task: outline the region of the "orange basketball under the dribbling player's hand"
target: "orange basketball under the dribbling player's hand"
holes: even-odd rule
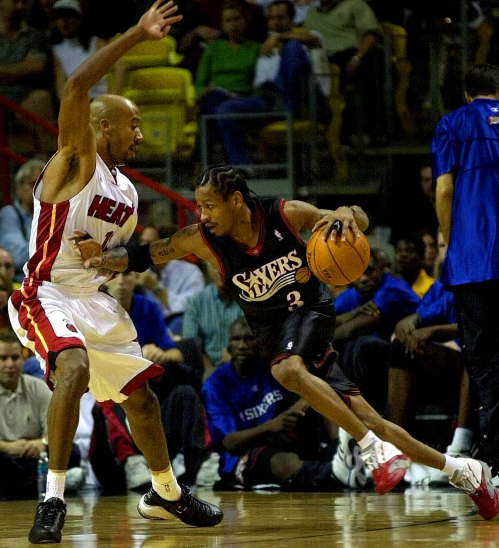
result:
[[[346,286],[360,278],[369,264],[371,252],[364,234],[355,236],[349,229],[347,240],[322,239],[322,230],[315,231],[307,244],[307,261],[310,270],[322,282],[333,286]]]

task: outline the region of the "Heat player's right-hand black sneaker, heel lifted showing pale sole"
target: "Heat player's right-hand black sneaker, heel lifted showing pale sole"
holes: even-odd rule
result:
[[[173,501],[162,499],[151,488],[139,500],[139,514],[148,520],[171,520],[178,517],[180,521],[195,527],[212,527],[222,521],[224,515],[218,506],[196,499],[190,494],[188,487],[182,483],[179,485],[182,496],[179,500]]]

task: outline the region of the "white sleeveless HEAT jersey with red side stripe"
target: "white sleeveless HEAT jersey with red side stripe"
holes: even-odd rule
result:
[[[42,186],[43,174],[33,189],[35,207],[30,259],[24,265],[26,278],[31,283],[47,281],[93,293],[112,274],[84,269],[80,252],[69,238],[76,229],[101,242],[103,249],[124,246],[137,225],[137,191],[118,170],[115,180],[99,155],[92,179],[66,202],[41,202]]]

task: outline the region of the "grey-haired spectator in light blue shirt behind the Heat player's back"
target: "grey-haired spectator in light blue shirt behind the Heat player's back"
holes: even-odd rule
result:
[[[14,258],[15,281],[22,282],[22,267],[29,259],[31,221],[33,220],[33,186],[45,167],[45,162],[31,159],[15,174],[14,203],[0,209],[0,247]]]

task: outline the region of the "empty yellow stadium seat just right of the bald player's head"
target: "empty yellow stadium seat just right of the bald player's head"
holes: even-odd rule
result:
[[[185,68],[155,67],[130,71],[123,95],[137,104],[144,141],[137,159],[160,160],[168,153],[186,157],[194,146],[188,124],[192,76]]]

